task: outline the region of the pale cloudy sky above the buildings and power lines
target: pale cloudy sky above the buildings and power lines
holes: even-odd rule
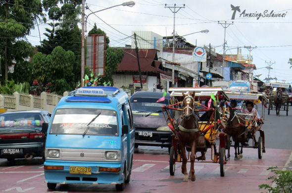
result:
[[[132,31],[152,31],[161,36],[172,36],[174,8],[168,7],[176,6],[175,32],[177,35],[183,36],[209,30],[207,34],[195,33],[185,36],[187,42],[197,46],[211,44],[217,53],[223,54],[224,25],[220,23],[226,22],[231,24],[226,28],[226,54],[237,54],[237,47],[241,47],[242,54],[247,56],[249,50],[244,47],[250,46],[252,64],[255,64],[257,68],[254,75],[260,75],[259,79],[264,82],[264,79],[270,75],[271,78],[276,77],[277,81],[292,84],[292,68],[290,69],[291,65],[288,64],[289,58],[292,58],[291,0],[134,1],[136,4],[133,7],[116,6],[91,14],[87,20],[87,31],[96,23],[97,27],[109,37],[112,47],[131,45]],[[123,2],[127,0],[86,0],[85,3],[89,9],[85,11],[85,14],[88,15]],[[234,19],[232,19],[234,13],[232,6],[237,7]],[[261,16],[258,16],[259,13]],[[276,17],[276,14],[280,17]],[[40,24],[39,27],[43,40],[45,39],[43,33],[49,25]],[[36,27],[27,38],[32,45],[40,45],[38,28]],[[273,68],[270,74],[266,68],[269,65]]]

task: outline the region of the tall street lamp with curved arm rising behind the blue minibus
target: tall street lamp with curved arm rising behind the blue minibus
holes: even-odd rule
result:
[[[134,1],[123,2],[122,4],[114,5],[114,6],[107,7],[107,8],[98,10],[98,11],[91,12],[90,14],[87,15],[86,20],[84,20],[85,19],[85,0],[82,0],[81,80],[80,80],[82,86],[83,86],[83,76],[84,76],[84,66],[85,66],[85,48],[84,48],[84,32],[85,31],[84,31],[84,25],[85,25],[85,28],[86,28],[87,19],[91,14],[97,13],[99,11],[103,11],[103,10],[106,10],[106,9],[110,9],[110,8],[113,8],[113,7],[116,7],[116,6],[121,6],[121,5],[133,7],[135,5],[135,2]]]

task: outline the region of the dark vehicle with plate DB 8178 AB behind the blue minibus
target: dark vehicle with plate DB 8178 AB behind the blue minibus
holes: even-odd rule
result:
[[[140,91],[130,97],[135,122],[135,147],[139,145],[170,147],[172,132],[162,114],[162,106],[170,104],[170,95],[166,94],[163,101],[160,92]],[[173,113],[173,112],[171,112]]]

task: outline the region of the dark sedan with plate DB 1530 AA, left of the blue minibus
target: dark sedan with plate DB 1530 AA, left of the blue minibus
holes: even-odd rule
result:
[[[45,156],[46,135],[43,123],[49,123],[48,111],[13,111],[0,114],[0,158],[31,159]]]

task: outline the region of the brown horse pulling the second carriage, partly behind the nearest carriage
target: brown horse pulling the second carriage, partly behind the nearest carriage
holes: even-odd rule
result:
[[[247,132],[245,132],[245,120],[244,117],[241,115],[236,115],[231,108],[228,106],[230,117],[226,123],[225,133],[226,137],[226,148],[228,149],[227,159],[230,159],[230,138],[232,137],[234,141],[234,148],[235,148],[235,157],[234,160],[238,160],[242,158],[243,154],[243,143],[247,142]],[[241,143],[241,150],[240,150],[240,143]]]

